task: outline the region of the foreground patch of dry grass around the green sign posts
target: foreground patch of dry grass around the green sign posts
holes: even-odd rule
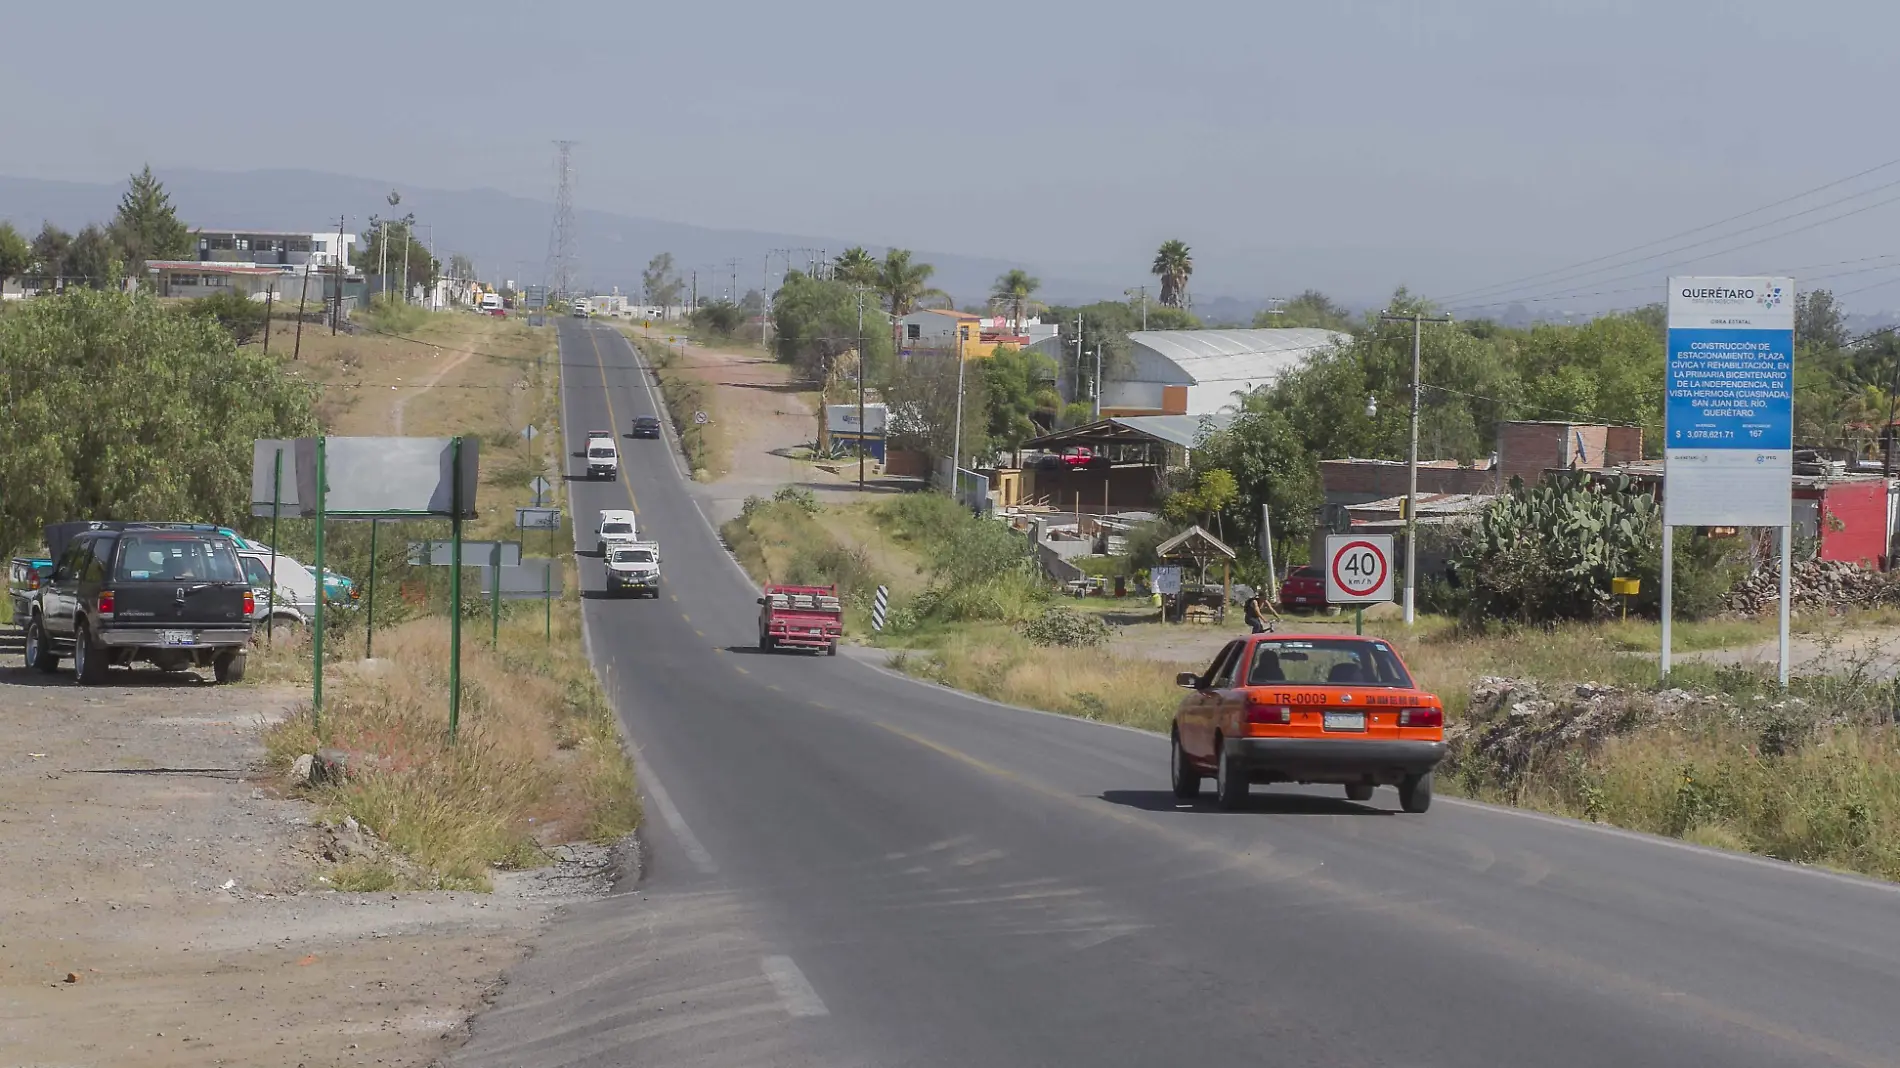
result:
[[[274,728],[270,758],[287,768],[321,747],[363,754],[363,775],[315,798],[441,886],[484,887],[492,867],[532,867],[543,846],[619,838],[640,819],[633,770],[581,652],[578,601],[555,621],[545,642],[540,612],[511,612],[498,650],[464,625],[454,745],[448,621],[428,618],[380,635],[374,667],[346,659],[327,671],[321,722],[304,709]]]

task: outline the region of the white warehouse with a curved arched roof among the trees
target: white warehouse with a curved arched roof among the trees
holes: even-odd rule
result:
[[[1132,367],[1102,386],[1102,416],[1212,416],[1349,340],[1320,329],[1134,331]]]

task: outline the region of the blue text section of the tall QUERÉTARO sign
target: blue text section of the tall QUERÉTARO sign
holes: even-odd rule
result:
[[[1668,333],[1670,448],[1794,448],[1794,331]]]

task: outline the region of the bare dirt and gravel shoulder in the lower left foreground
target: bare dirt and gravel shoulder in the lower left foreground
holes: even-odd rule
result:
[[[4,663],[4,1064],[428,1064],[604,855],[492,895],[329,891],[336,832],[262,766],[296,692]]]

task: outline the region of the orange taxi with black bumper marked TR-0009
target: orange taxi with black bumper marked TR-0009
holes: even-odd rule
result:
[[[1338,783],[1357,802],[1398,787],[1402,810],[1431,808],[1444,705],[1379,639],[1254,635],[1174,680],[1193,690],[1174,711],[1176,798],[1199,796],[1212,777],[1224,810],[1252,783]]]

